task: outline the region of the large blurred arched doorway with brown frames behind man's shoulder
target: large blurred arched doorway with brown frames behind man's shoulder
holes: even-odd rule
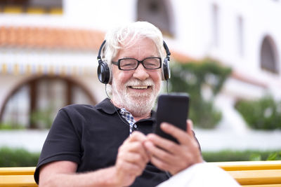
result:
[[[15,88],[1,109],[1,124],[11,128],[48,128],[60,108],[96,104],[91,93],[70,78],[41,76]]]

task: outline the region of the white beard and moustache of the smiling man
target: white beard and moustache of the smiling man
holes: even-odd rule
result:
[[[129,86],[149,85],[150,92],[138,93],[128,92]],[[144,116],[152,110],[157,95],[159,94],[161,83],[155,85],[151,78],[145,81],[139,81],[136,78],[131,78],[124,85],[115,83],[115,79],[112,80],[112,97],[113,102],[119,108],[125,108],[133,116]]]

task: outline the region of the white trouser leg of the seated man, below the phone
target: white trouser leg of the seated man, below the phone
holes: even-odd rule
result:
[[[172,176],[169,180],[160,183],[157,187],[235,187],[240,186],[235,179],[220,167],[199,163],[184,169]]]

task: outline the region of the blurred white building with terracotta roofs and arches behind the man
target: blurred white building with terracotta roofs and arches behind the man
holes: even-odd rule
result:
[[[281,96],[280,10],[277,0],[0,1],[1,121],[32,126],[34,111],[102,100],[104,33],[146,20],[164,33],[172,61],[212,57],[233,68],[216,105],[225,124],[243,128],[237,99]]]

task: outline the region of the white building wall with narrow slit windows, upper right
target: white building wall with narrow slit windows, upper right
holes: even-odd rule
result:
[[[259,55],[261,42],[266,34],[273,37],[277,53],[281,54],[281,3],[279,1],[176,0],[172,2],[176,21],[173,47],[191,57],[201,58],[211,55],[245,74],[263,76],[259,66]],[[212,39],[214,27],[211,18],[212,4],[218,6],[218,47],[213,45]],[[240,56],[238,48],[239,16],[244,22],[243,56]],[[279,69],[280,67],[281,65]]]

